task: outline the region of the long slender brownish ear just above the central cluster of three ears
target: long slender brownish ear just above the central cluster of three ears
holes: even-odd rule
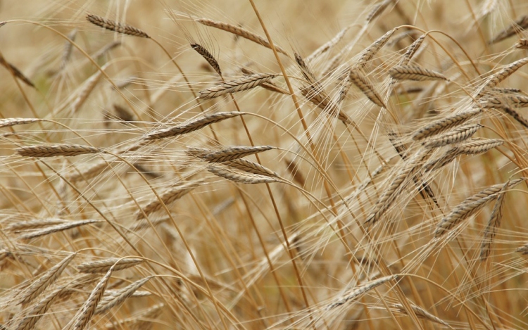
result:
[[[160,129],[158,131],[152,132],[146,135],[146,140],[157,140],[164,139],[165,137],[175,137],[181,134],[187,134],[190,132],[197,131],[206,127],[208,125],[214,124],[215,122],[220,122],[229,118],[237,117],[239,115],[244,115],[238,111],[232,111],[227,113],[213,113],[210,115],[205,115],[202,118],[191,120],[189,122],[184,122],[175,127],[168,127],[165,129]]]

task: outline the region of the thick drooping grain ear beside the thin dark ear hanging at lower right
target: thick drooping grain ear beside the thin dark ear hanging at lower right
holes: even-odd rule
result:
[[[446,234],[446,232],[451,230],[457,224],[460,224],[460,222],[484,208],[486,203],[497,198],[498,193],[501,193],[501,191],[504,189],[513,188],[525,180],[526,178],[515,179],[507,182],[506,184],[496,184],[494,186],[489,186],[488,188],[479,191],[473,196],[466,198],[462,203],[453,208],[453,210],[451,210],[451,212],[449,212],[449,214],[439,222],[439,224],[436,226],[436,230],[434,231],[434,237],[438,238]]]

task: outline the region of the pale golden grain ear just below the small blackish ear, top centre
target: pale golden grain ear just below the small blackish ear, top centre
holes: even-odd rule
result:
[[[253,89],[264,82],[269,82],[277,77],[272,73],[256,73],[255,75],[246,75],[236,80],[222,82],[214,87],[200,91],[199,99],[208,100],[225,94],[236,93],[237,91],[246,91]]]

